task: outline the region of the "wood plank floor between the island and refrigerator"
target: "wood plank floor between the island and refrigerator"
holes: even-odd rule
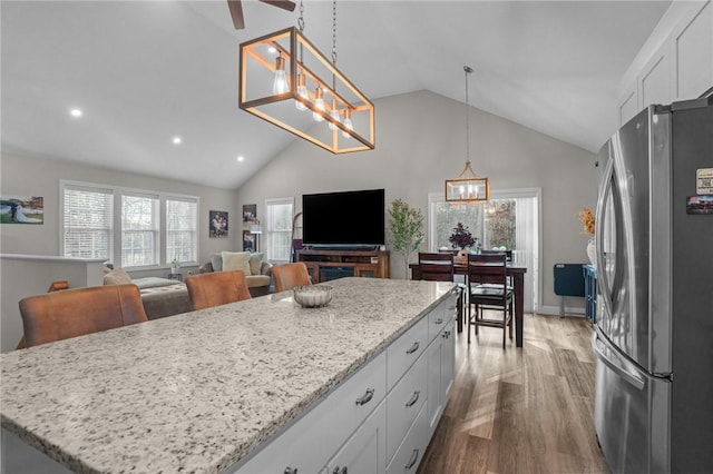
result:
[[[472,328],[471,328],[472,330]],[[608,473],[597,445],[592,325],[525,315],[524,347],[501,329],[456,339],[456,381],[419,474]]]

